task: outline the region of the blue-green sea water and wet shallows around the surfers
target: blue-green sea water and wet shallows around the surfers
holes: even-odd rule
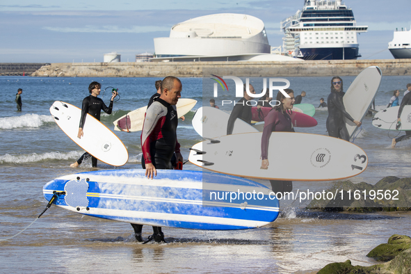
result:
[[[342,77],[345,90],[355,77]],[[319,106],[328,97],[331,77],[288,78],[296,95],[307,92],[303,103]],[[0,101],[0,271],[2,273],[315,273],[326,264],[350,259],[354,265],[376,264],[365,255],[376,245],[387,242],[392,234],[408,234],[411,213],[321,213],[307,211],[298,201],[280,203],[280,218],[266,227],[235,232],[198,231],[164,228],[168,243],[142,245],[134,240],[131,225],[81,216],[51,207],[31,227],[22,231],[45,209],[42,186],[51,179],[74,172],[93,170],[90,161],[79,168],[70,163],[83,154],[57,126],[49,114],[56,100],[81,106],[88,96],[91,81],[119,88],[120,100],[111,115],[112,122],[128,111],[147,104],[155,92],[154,78],[41,78],[1,76],[3,100]],[[182,78],[182,97],[198,100],[186,120],[180,120],[177,135],[186,159],[188,149],[198,143],[191,118],[202,106],[202,79]],[[387,106],[393,90],[400,99],[410,77],[383,76],[376,109]],[[252,82],[255,90],[260,81]],[[15,93],[23,89],[22,112],[17,112]],[[110,97],[108,88],[103,99]],[[100,95],[100,97],[102,97]],[[204,97],[204,104],[209,98]],[[218,100],[216,101],[219,104]],[[220,105],[220,104],[219,104]],[[229,106],[220,108],[230,111]],[[326,135],[326,108],[316,108],[313,128],[298,132]],[[369,166],[352,182],[376,184],[386,176],[410,177],[411,141],[391,148],[398,133],[376,129],[371,116],[363,120],[354,143],[366,152]],[[129,151],[129,161],[121,168],[140,168],[140,133],[114,131]],[[403,134],[403,132],[401,133]],[[290,140],[292,142],[292,140]],[[309,144],[307,144],[309,145]],[[298,155],[296,155],[298,156]],[[292,164],[292,163],[290,163]],[[113,168],[98,163],[99,169]],[[296,167],[298,168],[298,167]],[[191,163],[185,170],[200,170]],[[264,182],[263,182],[264,183]],[[333,182],[294,182],[293,188],[323,190]],[[145,226],[143,236],[152,232]]]

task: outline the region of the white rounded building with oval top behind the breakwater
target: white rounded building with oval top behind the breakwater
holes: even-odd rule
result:
[[[244,61],[271,51],[260,19],[232,13],[176,24],[169,38],[154,38],[154,49],[152,61]]]

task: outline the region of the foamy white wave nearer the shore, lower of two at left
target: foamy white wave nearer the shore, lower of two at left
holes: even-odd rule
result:
[[[72,151],[72,152],[46,152],[42,154],[32,153],[32,154],[22,154],[22,155],[10,155],[4,154],[0,155],[0,163],[35,163],[44,160],[68,160],[77,159],[81,156],[83,151]]]

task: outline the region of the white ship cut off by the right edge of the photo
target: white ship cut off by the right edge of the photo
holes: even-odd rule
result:
[[[396,59],[411,58],[411,29],[396,29],[394,39],[388,43],[388,49]]]

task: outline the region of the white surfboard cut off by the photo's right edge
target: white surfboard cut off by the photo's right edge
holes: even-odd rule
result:
[[[398,109],[400,106],[392,106],[391,108],[385,108],[382,111],[378,111],[373,118],[373,126],[378,129],[388,130],[411,130],[411,106],[404,106],[403,112],[401,112],[401,124],[396,129],[396,122],[398,117]]]

